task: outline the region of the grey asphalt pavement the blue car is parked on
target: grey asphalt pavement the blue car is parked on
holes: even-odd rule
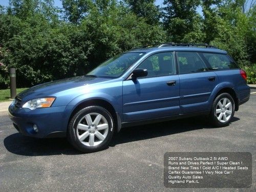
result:
[[[252,89],[251,92],[256,92]],[[229,126],[205,117],[121,130],[104,151],[81,154],[65,138],[20,135],[0,112],[0,191],[256,191],[256,93]],[[250,152],[250,188],[165,188],[165,152]]]

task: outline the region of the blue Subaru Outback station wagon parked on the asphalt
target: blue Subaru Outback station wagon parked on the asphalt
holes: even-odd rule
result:
[[[139,123],[208,114],[214,125],[226,126],[249,96],[246,73],[226,51],[166,43],[32,87],[17,95],[9,116],[23,135],[67,136],[78,150],[95,152],[114,131]]]

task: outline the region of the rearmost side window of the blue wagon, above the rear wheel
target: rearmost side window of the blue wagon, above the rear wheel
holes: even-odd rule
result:
[[[203,53],[203,56],[209,62],[211,70],[238,68],[236,63],[234,63],[234,61],[225,54]]]

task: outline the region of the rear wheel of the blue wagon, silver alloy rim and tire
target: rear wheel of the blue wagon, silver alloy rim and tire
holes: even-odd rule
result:
[[[234,116],[234,100],[228,93],[218,95],[212,103],[210,119],[215,126],[222,127],[230,123]]]

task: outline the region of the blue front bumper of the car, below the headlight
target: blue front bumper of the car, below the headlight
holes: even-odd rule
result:
[[[25,136],[52,137],[66,136],[67,117],[66,106],[41,108],[31,111],[30,109],[16,108],[14,104],[9,106],[9,117],[14,127]],[[33,130],[33,125],[38,127],[38,133]]]

